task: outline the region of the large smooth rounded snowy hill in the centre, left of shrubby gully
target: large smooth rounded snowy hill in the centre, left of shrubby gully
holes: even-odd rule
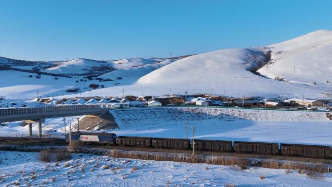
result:
[[[213,93],[227,96],[325,97],[325,90],[309,85],[277,81],[255,75],[247,69],[263,58],[260,51],[226,49],[193,55],[150,72],[133,85],[95,90],[94,95]],[[83,93],[88,96],[90,93]],[[64,96],[64,97],[74,97]]]

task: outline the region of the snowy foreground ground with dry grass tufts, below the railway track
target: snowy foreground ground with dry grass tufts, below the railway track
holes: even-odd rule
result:
[[[73,154],[43,163],[38,153],[0,151],[0,186],[48,187],[330,187],[332,174],[311,177],[297,170],[149,161]],[[65,163],[69,166],[65,167]],[[109,166],[103,169],[102,166]],[[96,166],[96,167],[95,167]],[[98,166],[98,167],[97,167]],[[137,170],[133,170],[137,167]],[[113,168],[113,169],[112,169]],[[117,169],[116,169],[117,168]],[[132,171],[133,170],[133,171]],[[261,179],[264,175],[266,178]]]

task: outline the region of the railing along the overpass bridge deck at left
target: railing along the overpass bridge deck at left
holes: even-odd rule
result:
[[[26,108],[6,108],[0,109],[0,117],[26,115],[26,114],[39,114],[49,112],[69,112],[78,110],[91,110],[101,109],[103,106],[99,104],[80,104],[80,105],[64,105],[64,106],[46,106],[46,107],[26,107]]]

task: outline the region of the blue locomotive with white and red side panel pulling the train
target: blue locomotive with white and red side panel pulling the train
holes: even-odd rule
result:
[[[110,144],[116,143],[116,134],[114,133],[87,133],[87,132],[71,132],[71,141],[82,143],[98,143]]]

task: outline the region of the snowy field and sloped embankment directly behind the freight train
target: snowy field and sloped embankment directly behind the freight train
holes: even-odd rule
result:
[[[332,145],[332,121],[324,112],[204,107],[160,107],[110,110],[122,136],[195,137]],[[186,120],[187,119],[187,120]]]

